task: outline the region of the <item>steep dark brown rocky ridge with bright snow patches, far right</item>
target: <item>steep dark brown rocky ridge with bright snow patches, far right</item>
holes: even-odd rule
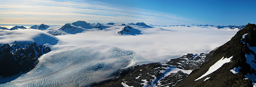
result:
[[[256,78],[256,25],[247,24],[207,63],[175,87],[252,87]],[[221,61],[224,61],[221,63]],[[217,67],[219,65],[219,67]]]

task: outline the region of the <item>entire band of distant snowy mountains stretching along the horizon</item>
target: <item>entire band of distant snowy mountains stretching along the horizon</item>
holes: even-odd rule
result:
[[[107,26],[107,25],[121,25],[121,26],[127,26],[127,25],[137,25],[137,26],[143,26],[143,27],[147,27],[147,28],[152,28],[152,27],[174,27],[174,26],[184,26],[184,27],[193,27],[193,26],[198,26],[198,27],[215,27],[216,29],[238,29],[238,30],[241,30],[243,29],[245,26],[241,25],[241,26],[213,26],[213,25],[209,25],[209,24],[206,24],[206,25],[201,25],[201,24],[198,24],[198,25],[172,25],[172,26],[159,26],[159,25],[152,25],[150,24],[149,26],[143,22],[138,22],[138,23],[128,23],[128,24],[121,24],[121,23],[107,23],[107,24],[100,24],[100,23],[87,23],[86,21],[76,21],[74,23],[67,23],[65,24],[64,26],[62,27],[51,27],[51,26],[48,26],[48,25],[45,25],[45,24],[40,24],[40,25],[34,25],[34,26],[31,26],[29,27],[28,29],[37,29],[37,30],[44,30],[46,31],[47,33],[50,33],[54,36],[57,36],[57,35],[64,35],[66,33],[69,33],[69,34],[76,34],[76,33],[81,33],[83,32],[84,30],[88,30],[88,29],[100,29],[100,30],[104,30],[106,28],[109,28],[110,26]],[[12,27],[11,29],[7,29],[5,27],[0,27],[0,29],[2,30],[18,30],[18,29],[27,29],[26,27],[24,26],[15,26],[15,27]],[[119,34],[119,33],[118,33]],[[120,34],[121,35],[121,34]]]

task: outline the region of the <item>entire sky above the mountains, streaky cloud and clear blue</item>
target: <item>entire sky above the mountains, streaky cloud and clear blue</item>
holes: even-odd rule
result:
[[[137,23],[147,25],[256,23],[256,0],[0,0],[0,26]]]

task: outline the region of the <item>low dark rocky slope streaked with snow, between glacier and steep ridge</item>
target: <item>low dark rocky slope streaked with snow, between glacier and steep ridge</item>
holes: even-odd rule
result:
[[[134,67],[121,70],[119,77],[115,80],[108,80],[102,83],[96,83],[95,87],[123,87],[123,84],[134,87],[157,86],[166,87],[174,86],[181,82],[189,74],[184,73],[186,70],[193,70],[204,64],[212,56],[215,50],[200,55],[187,54],[179,58],[171,59],[163,63],[150,63],[137,65]],[[172,71],[172,69],[174,71]],[[183,70],[183,71],[182,71]],[[172,73],[169,73],[172,71]],[[169,73],[166,75],[166,73]]]

